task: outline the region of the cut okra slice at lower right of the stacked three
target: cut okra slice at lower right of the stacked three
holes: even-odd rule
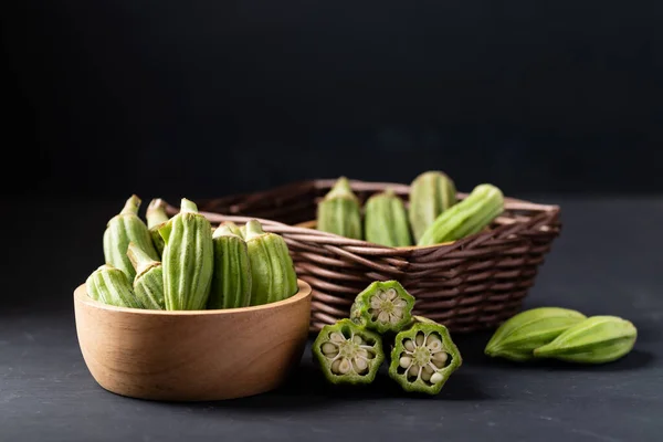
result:
[[[461,354],[441,324],[415,316],[411,328],[396,336],[389,377],[406,391],[438,394],[462,364]]]

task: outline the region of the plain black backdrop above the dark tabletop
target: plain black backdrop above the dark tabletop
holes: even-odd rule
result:
[[[663,190],[655,1],[3,9],[23,172],[3,193],[199,198],[431,168],[463,190]]]

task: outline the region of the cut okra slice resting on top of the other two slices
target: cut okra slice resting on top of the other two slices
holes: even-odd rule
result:
[[[376,281],[355,298],[350,319],[376,330],[398,333],[412,319],[414,297],[398,281]]]

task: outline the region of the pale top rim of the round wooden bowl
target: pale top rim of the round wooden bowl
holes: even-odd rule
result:
[[[95,301],[87,296],[87,288],[85,287],[85,283],[78,285],[74,291],[74,298],[76,302],[87,304],[94,308],[109,311],[109,312],[122,312],[122,313],[130,313],[135,315],[151,315],[151,316],[210,316],[210,315],[233,315],[233,314],[246,314],[252,312],[260,312],[271,308],[278,308],[282,306],[286,306],[288,304],[295,304],[311,297],[313,294],[313,290],[311,285],[303,280],[297,278],[297,293],[287,299],[277,301],[275,303],[263,304],[263,305],[253,305],[250,307],[238,307],[238,308],[217,308],[217,309],[206,309],[206,311],[154,311],[154,309],[145,309],[145,308],[129,308],[129,307],[117,307],[114,305],[104,304],[102,302]]]

